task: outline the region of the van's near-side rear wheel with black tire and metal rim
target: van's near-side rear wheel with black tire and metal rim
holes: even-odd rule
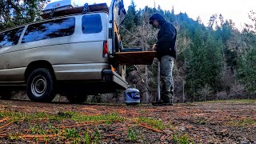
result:
[[[34,70],[26,81],[26,94],[33,102],[51,102],[55,98],[54,78],[50,70]]]

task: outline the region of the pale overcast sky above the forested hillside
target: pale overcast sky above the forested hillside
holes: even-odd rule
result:
[[[59,0],[52,0],[56,2]],[[73,0],[78,6],[85,2],[92,4],[106,2],[110,6],[111,0]],[[134,0],[137,9],[145,6],[160,5],[163,10],[171,10],[174,6],[175,14],[180,12],[188,14],[194,20],[199,16],[207,24],[212,14],[222,14],[225,19],[232,19],[235,26],[241,29],[245,22],[250,22],[248,13],[256,12],[256,0]],[[130,5],[130,0],[124,0],[125,6]]]

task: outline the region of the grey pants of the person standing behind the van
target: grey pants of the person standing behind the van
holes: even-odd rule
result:
[[[174,58],[170,55],[164,55],[160,61],[160,75],[162,83],[161,100],[171,102],[174,94],[173,80]]]

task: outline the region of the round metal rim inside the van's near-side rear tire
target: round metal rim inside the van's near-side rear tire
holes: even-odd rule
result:
[[[31,84],[32,94],[34,94],[35,97],[41,97],[46,92],[46,86],[46,78],[42,75],[38,75],[33,79]]]

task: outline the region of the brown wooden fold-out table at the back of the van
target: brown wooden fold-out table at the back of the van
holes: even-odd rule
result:
[[[115,53],[118,62],[122,65],[152,65],[155,51],[135,51]]]

